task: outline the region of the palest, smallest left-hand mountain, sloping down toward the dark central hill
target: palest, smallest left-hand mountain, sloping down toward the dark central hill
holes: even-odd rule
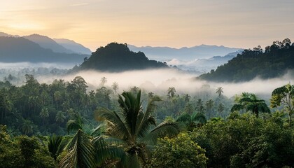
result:
[[[67,50],[71,50],[77,54],[85,54],[85,55],[92,54],[92,51],[89,48],[85,48],[85,46],[79,43],[76,43],[75,41],[64,39],[64,38],[53,38],[53,40],[59,45],[62,45]]]

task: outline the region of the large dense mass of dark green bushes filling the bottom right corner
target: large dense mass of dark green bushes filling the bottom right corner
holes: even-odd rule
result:
[[[191,139],[206,150],[208,167],[293,167],[294,132],[280,120],[232,113],[197,127]],[[275,122],[276,121],[276,122]]]

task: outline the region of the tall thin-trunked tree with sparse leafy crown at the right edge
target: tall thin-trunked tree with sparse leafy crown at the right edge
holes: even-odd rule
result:
[[[294,113],[294,85],[283,85],[272,91],[271,106],[283,105],[289,116],[289,125],[292,127],[292,115]]]

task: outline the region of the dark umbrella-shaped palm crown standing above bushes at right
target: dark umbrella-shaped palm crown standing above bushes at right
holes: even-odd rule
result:
[[[246,109],[246,111],[251,111],[254,113],[256,117],[258,117],[259,112],[270,112],[267,104],[265,104],[265,100],[258,99],[258,97],[256,97],[256,95],[253,93],[243,92],[241,97],[237,97],[235,101],[237,104],[232,106],[231,112]]]

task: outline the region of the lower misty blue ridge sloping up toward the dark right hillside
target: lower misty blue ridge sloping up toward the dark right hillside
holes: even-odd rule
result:
[[[210,71],[211,69],[216,69],[217,66],[227,63],[237,54],[241,54],[243,50],[236,52],[230,52],[225,56],[214,56],[209,59],[195,59],[193,61],[181,61],[179,59],[172,59],[167,61],[168,65],[177,66],[179,69],[184,71],[202,71],[202,73]]]

